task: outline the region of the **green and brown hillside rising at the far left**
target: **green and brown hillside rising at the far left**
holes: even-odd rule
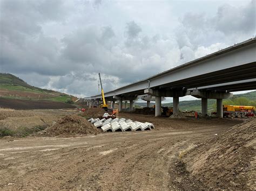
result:
[[[77,99],[58,91],[31,86],[19,77],[8,73],[0,73],[0,97],[19,100],[49,100],[63,103],[67,99],[73,101]]]

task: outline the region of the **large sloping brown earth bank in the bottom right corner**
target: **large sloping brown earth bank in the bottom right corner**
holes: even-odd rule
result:
[[[210,189],[255,190],[255,131],[251,119],[194,148],[183,159],[191,178]]]

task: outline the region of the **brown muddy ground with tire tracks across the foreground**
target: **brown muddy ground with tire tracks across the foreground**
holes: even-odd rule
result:
[[[191,181],[182,153],[242,122],[119,117],[151,122],[156,130],[0,139],[0,189],[208,189]]]

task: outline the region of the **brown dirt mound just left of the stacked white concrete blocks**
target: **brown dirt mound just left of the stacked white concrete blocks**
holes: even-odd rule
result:
[[[69,137],[72,135],[81,134],[97,134],[98,130],[86,119],[77,115],[67,115],[60,118],[55,124],[46,128],[41,135],[45,136],[64,136]]]

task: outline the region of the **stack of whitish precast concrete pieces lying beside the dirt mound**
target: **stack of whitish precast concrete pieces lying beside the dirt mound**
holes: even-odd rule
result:
[[[154,129],[154,125],[149,122],[133,122],[131,119],[125,119],[125,118],[115,118],[115,119],[89,119],[89,122],[91,122],[93,125],[96,126],[96,128],[102,128],[102,130],[105,131],[146,131],[146,130],[152,130]]]

